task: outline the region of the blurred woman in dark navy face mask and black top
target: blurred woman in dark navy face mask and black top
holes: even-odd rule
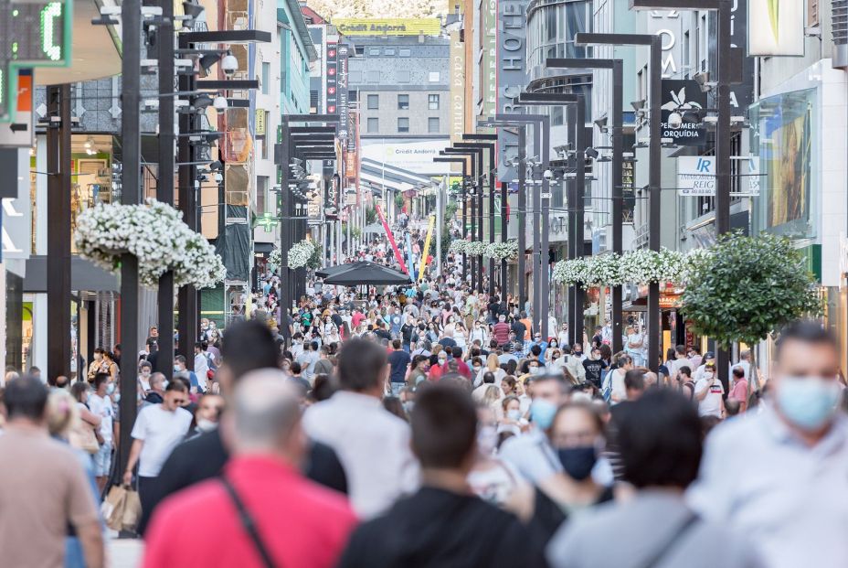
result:
[[[603,432],[603,422],[590,404],[567,402],[554,414],[546,434],[562,471],[538,481],[523,495],[516,492],[508,505],[529,525],[540,545],[569,517],[612,500],[612,488],[600,485],[591,475],[603,449]]]

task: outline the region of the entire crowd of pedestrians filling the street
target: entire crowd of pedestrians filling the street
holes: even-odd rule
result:
[[[848,566],[845,389],[820,324],[780,331],[764,383],[744,351],[725,387],[711,352],[678,346],[654,374],[639,322],[620,353],[609,326],[543,337],[459,257],[442,269],[311,283],[284,313],[263,276],[246,320],[205,323],[170,377],[152,330],[125,464],[120,355],[73,382],[7,374],[0,565],[107,563],[119,484],[157,568]]]

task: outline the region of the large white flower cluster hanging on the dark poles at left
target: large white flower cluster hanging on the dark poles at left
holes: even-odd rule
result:
[[[174,273],[175,286],[196,288],[214,287],[227,275],[215,247],[183,222],[180,211],[155,199],[84,210],[74,242],[82,258],[111,272],[117,272],[121,255],[129,252],[138,258],[140,282],[149,287],[167,271]]]

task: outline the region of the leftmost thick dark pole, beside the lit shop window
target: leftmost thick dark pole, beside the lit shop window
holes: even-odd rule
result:
[[[48,87],[48,369],[70,378],[70,85]],[[111,348],[111,346],[107,346]],[[78,377],[85,370],[77,371]]]

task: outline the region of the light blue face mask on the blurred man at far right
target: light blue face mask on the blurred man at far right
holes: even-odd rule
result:
[[[816,431],[829,423],[839,404],[835,380],[821,377],[784,377],[777,391],[781,414],[801,430]]]

